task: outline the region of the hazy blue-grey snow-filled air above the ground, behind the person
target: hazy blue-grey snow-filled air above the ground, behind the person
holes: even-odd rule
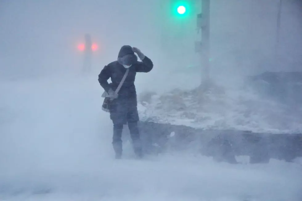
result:
[[[181,37],[166,24],[168,3],[162,0],[0,0],[0,68],[2,78],[27,78],[59,71],[76,72],[82,65],[76,46],[90,33],[100,46],[94,70],[116,59],[130,44],[169,72],[198,66],[194,41],[199,0],[186,19]],[[211,1],[211,73],[255,74],[265,70],[301,70],[302,3],[283,0],[279,61],[274,60],[279,0]],[[167,7],[165,7],[167,6]],[[178,25],[177,25],[178,26]],[[164,28],[162,28],[164,27]],[[178,35],[177,35],[178,33]],[[163,45],[163,39],[170,38]],[[276,66],[275,63],[278,63]]]

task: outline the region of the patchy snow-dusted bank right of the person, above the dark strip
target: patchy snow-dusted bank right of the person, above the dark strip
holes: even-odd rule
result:
[[[210,90],[175,89],[141,95],[141,119],[203,129],[235,129],[265,133],[302,133],[302,105],[263,98],[239,82],[210,84]]]

